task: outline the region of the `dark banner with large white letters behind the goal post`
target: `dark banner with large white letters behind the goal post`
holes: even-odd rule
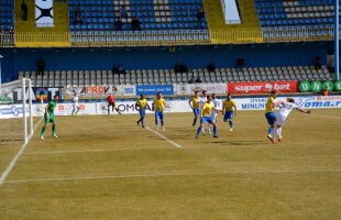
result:
[[[59,96],[63,100],[63,88],[62,87],[32,87],[31,92],[33,94],[32,101],[50,101],[55,95]],[[29,98],[29,88],[26,88],[26,98]],[[13,90],[13,101],[18,102],[22,100],[22,88]]]

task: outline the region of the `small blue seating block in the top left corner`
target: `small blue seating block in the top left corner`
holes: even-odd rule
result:
[[[0,1],[0,18],[1,28],[4,32],[13,28],[13,0]]]

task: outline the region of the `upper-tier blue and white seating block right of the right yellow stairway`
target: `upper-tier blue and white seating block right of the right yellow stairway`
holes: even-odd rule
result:
[[[254,0],[262,28],[330,26],[333,0]]]

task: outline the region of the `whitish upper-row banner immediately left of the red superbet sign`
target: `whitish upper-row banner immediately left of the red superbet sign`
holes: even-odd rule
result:
[[[227,84],[189,84],[189,85],[176,85],[176,95],[188,96],[195,91],[207,90],[208,94],[226,95]]]

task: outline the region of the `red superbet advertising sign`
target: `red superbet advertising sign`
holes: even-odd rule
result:
[[[290,94],[298,91],[298,81],[245,81],[229,82],[229,94],[268,94],[271,90],[279,94]]]

